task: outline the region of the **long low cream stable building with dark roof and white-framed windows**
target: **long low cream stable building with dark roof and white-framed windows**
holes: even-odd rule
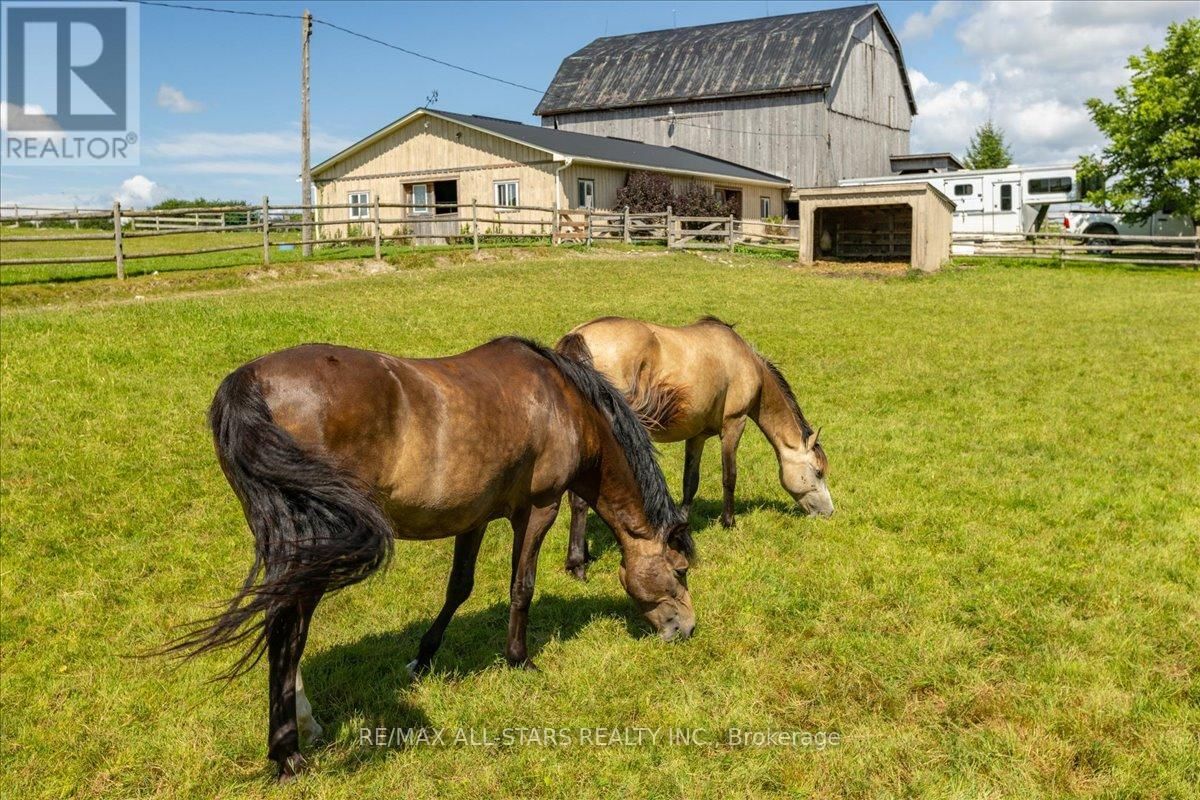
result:
[[[404,216],[436,223],[472,203],[503,221],[505,209],[613,209],[631,172],[668,175],[677,190],[698,184],[733,200],[739,216],[782,215],[786,178],[691,152],[490,116],[419,108],[312,170],[323,236],[371,221],[371,204],[407,204]],[[385,216],[395,216],[385,215]],[[455,235],[425,225],[431,235]]]

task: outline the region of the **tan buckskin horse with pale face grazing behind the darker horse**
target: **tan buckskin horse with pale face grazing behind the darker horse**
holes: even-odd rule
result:
[[[779,480],[800,509],[828,517],[833,498],[826,485],[828,461],[779,368],[732,325],[704,317],[668,327],[620,317],[601,317],[572,329],[557,349],[589,363],[624,392],[655,441],[684,441],[683,511],[700,486],[704,443],[721,438],[725,507],[721,524],[733,525],[738,443],[746,420],[762,429],[779,458]],[[587,504],[571,498],[566,570],[587,575]]]

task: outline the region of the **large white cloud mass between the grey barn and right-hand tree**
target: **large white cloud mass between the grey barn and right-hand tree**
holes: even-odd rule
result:
[[[931,31],[936,11],[908,32],[919,38]],[[1193,14],[1195,4],[994,1],[960,11],[954,35],[977,78],[940,84],[910,71],[919,112],[912,150],[962,155],[971,133],[991,118],[1015,161],[1051,163],[1103,146],[1084,101],[1110,98],[1128,80],[1128,58],[1160,47],[1168,23]]]

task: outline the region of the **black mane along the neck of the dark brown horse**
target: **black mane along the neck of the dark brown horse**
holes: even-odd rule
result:
[[[646,517],[658,530],[666,530],[684,522],[683,513],[676,507],[667,489],[666,479],[659,469],[656,459],[658,452],[650,441],[649,434],[630,409],[624,396],[617,391],[608,380],[596,372],[592,366],[583,363],[570,355],[556,353],[547,347],[530,339],[517,336],[503,337],[504,341],[522,344],[544,359],[548,360],[558,368],[563,375],[575,385],[587,398],[588,403],[604,413],[612,425],[613,437],[625,451],[629,465],[634,471],[634,479],[642,491],[642,503],[646,506]],[[497,339],[502,341],[502,339]],[[674,542],[683,545],[683,542]],[[688,545],[690,548],[690,545]],[[685,552],[685,555],[690,555]]]

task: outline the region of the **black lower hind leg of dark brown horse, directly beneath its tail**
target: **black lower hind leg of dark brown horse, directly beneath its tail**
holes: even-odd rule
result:
[[[280,768],[280,781],[288,781],[305,765],[300,754],[296,721],[296,675],[300,655],[308,638],[308,621],[317,600],[272,608],[266,613],[266,652],[270,684],[270,734],[266,754]]]

